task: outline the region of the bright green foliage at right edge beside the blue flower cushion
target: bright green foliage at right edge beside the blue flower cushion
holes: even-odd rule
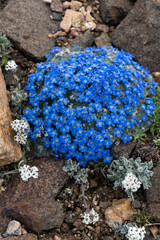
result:
[[[160,87],[157,87],[156,94],[153,97],[156,108],[153,111],[153,123],[151,125],[151,133],[160,134]]]

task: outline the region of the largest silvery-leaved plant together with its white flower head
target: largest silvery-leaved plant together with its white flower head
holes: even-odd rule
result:
[[[151,187],[150,177],[153,176],[153,172],[150,169],[152,167],[152,161],[142,162],[139,157],[135,160],[120,157],[111,163],[107,177],[114,181],[114,189],[121,187],[133,201],[133,192],[136,192],[141,185],[144,189]]]

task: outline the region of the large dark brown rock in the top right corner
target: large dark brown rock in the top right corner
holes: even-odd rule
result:
[[[111,34],[115,47],[131,53],[136,61],[151,72],[159,71],[159,15],[159,1],[137,0],[127,17]]]

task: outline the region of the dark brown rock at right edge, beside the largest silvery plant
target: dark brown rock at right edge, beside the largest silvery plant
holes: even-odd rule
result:
[[[153,169],[154,175],[151,177],[152,187],[145,190],[146,200],[148,204],[160,203],[160,161]]]

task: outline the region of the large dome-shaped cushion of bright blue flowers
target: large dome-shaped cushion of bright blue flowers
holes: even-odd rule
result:
[[[80,165],[110,163],[110,146],[131,140],[155,109],[155,82],[133,57],[115,48],[54,48],[26,86],[24,116],[32,140]]]

